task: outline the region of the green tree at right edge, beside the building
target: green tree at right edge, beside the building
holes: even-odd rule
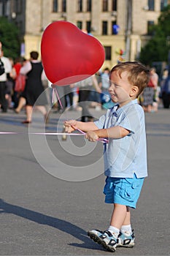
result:
[[[164,8],[158,24],[152,28],[152,39],[142,48],[139,61],[151,65],[153,61],[167,61],[170,50],[170,5]]]

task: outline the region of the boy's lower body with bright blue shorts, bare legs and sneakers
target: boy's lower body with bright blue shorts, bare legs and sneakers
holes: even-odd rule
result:
[[[107,177],[104,187],[105,202],[114,203],[114,209],[108,230],[88,232],[88,236],[93,241],[102,244],[112,252],[115,252],[116,246],[134,246],[134,233],[131,230],[131,214],[128,206],[136,208],[143,181],[144,178],[136,178],[136,176],[134,178]],[[128,191],[127,195],[124,193],[125,189]]]

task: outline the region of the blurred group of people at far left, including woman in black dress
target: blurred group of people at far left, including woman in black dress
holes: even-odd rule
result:
[[[26,120],[23,124],[31,123],[32,109],[38,108],[45,121],[47,119],[47,98],[43,94],[42,80],[46,78],[42,62],[38,60],[39,53],[31,51],[30,59],[17,58],[15,61],[4,57],[0,43],[1,67],[4,72],[0,75],[0,106],[1,111],[7,113],[13,109],[15,113],[25,107]],[[36,106],[35,106],[36,103]]]

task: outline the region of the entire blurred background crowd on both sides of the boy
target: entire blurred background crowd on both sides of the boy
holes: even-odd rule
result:
[[[23,124],[31,123],[31,113],[35,103],[45,121],[48,121],[47,109],[49,106],[47,107],[47,105],[52,101],[52,90],[49,95],[50,100],[47,99],[47,94],[42,94],[45,91],[43,81],[47,81],[47,77],[42,62],[38,58],[39,53],[36,51],[31,51],[29,60],[23,57],[18,57],[15,60],[7,58],[4,56],[0,42],[1,112],[6,113],[8,109],[12,109],[15,113],[20,113],[24,108],[26,120],[23,121]],[[93,121],[93,115],[90,113],[89,107],[101,110],[102,108],[111,108],[114,105],[109,96],[109,76],[110,70],[106,67],[103,70],[98,70],[96,75],[78,83],[57,86],[60,102],[57,99],[57,104],[51,105],[50,108],[56,108],[60,113],[66,108],[69,108],[69,110],[79,108],[82,110],[81,121]],[[163,89],[170,87],[167,86],[167,78],[169,78],[167,69],[163,71],[160,80],[155,67],[150,68],[150,82],[138,99],[145,112],[158,111],[160,100],[165,98]],[[47,83],[49,86],[49,81]]]

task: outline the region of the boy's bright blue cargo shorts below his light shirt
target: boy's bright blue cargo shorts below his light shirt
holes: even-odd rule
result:
[[[106,178],[104,186],[105,203],[118,203],[136,208],[144,178]]]

